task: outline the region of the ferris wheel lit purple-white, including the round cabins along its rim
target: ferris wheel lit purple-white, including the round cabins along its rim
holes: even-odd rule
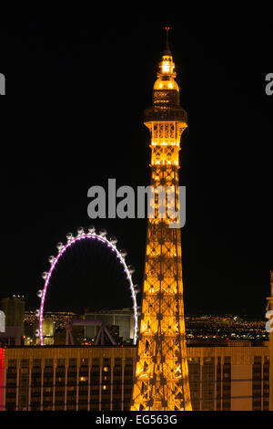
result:
[[[103,246],[109,249],[109,252],[113,252],[116,256],[117,262],[121,264],[124,269],[124,273],[126,276],[126,280],[129,286],[129,290],[131,292],[131,298],[133,300],[133,310],[134,310],[134,337],[133,343],[136,344],[137,340],[137,320],[139,316],[139,307],[136,303],[136,294],[139,292],[139,288],[137,285],[134,285],[133,282],[133,273],[135,272],[135,268],[131,265],[127,265],[126,263],[126,250],[118,250],[116,247],[117,239],[116,237],[107,238],[106,237],[106,229],[101,229],[98,233],[96,233],[95,226],[89,226],[88,232],[81,226],[77,229],[76,235],[72,233],[68,233],[66,235],[66,245],[63,243],[58,243],[56,248],[58,253],[56,256],[49,256],[48,262],[50,264],[49,271],[44,271],[42,274],[43,279],[45,280],[45,285],[43,289],[38,290],[37,296],[41,299],[40,301],[40,309],[35,310],[35,316],[39,320],[39,328],[35,330],[36,337],[39,337],[40,344],[44,345],[44,333],[43,333],[43,319],[44,319],[44,307],[45,307],[45,297],[48,287],[50,286],[50,280],[55,272],[56,266],[61,258],[66,256],[67,249],[72,246],[78,246],[80,243],[86,240],[93,240],[98,243],[101,243]]]

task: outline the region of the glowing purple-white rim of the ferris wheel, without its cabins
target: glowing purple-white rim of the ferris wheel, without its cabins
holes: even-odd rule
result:
[[[83,239],[96,239],[102,243],[104,243],[106,246],[110,247],[112,251],[114,251],[116,253],[116,257],[119,258],[120,263],[123,265],[123,267],[125,268],[125,272],[126,272],[126,279],[129,282],[129,288],[131,291],[131,297],[133,300],[133,309],[134,309],[134,319],[135,319],[135,327],[134,327],[134,338],[133,338],[133,344],[136,345],[136,340],[137,340],[137,321],[138,321],[138,312],[137,312],[137,303],[136,303],[136,290],[135,290],[135,285],[133,283],[133,279],[132,279],[132,272],[130,272],[129,266],[126,263],[125,260],[125,256],[122,256],[120,251],[116,248],[116,243],[115,242],[111,242],[108,238],[106,238],[106,235],[99,235],[96,234],[96,232],[93,233],[80,233],[76,236],[74,236],[73,238],[67,238],[67,243],[66,245],[63,245],[62,243],[59,243],[59,251],[58,254],[56,256],[54,256],[54,259],[52,260],[51,263],[51,267],[49,269],[48,272],[43,273],[43,277],[45,278],[45,285],[44,288],[41,290],[41,302],[40,302],[40,309],[37,310],[38,311],[38,319],[39,319],[39,339],[40,339],[40,345],[44,346],[44,333],[43,333],[43,320],[44,320],[44,307],[45,307],[45,296],[46,296],[46,290],[47,287],[49,285],[50,282],[50,278],[56,268],[56,265],[59,261],[59,259],[61,258],[61,256],[63,256],[66,253],[66,250],[72,246],[75,245],[76,242],[81,241]],[[50,256],[52,257],[52,256]]]

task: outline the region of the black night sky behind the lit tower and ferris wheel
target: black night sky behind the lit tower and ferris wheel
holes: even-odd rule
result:
[[[183,3],[183,8],[182,8]],[[105,227],[141,285],[146,221],[89,219],[87,190],[149,184],[143,112],[164,46],[164,26],[188,113],[180,184],[187,314],[264,317],[272,261],[272,10],[248,2],[147,5],[24,2],[2,16],[0,298],[36,291],[56,243],[78,226]],[[205,5],[204,4],[204,5]],[[47,309],[129,307],[120,267],[86,245],[56,272]]]

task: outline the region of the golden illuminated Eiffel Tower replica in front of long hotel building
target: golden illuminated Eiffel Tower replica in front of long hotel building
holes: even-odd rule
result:
[[[187,112],[179,106],[175,64],[168,45],[163,51],[153,90],[153,106],[145,111],[151,135],[151,186],[175,186],[178,209],[180,137]],[[154,188],[154,189],[155,189]],[[191,411],[183,302],[181,232],[172,220],[148,219],[145,278],[131,411]],[[166,205],[167,207],[167,205]]]

